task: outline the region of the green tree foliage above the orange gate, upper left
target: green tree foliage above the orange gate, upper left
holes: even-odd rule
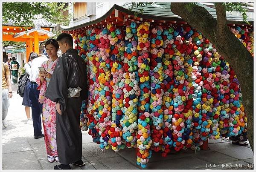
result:
[[[64,3],[3,3],[3,23],[12,20],[17,26],[33,26],[33,20],[41,16],[51,23],[68,25],[70,16],[64,16],[67,10]]]

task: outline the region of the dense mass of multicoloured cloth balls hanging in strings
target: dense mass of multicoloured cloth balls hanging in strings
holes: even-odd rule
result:
[[[230,31],[253,56],[253,31]],[[80,126],[101,150],[136,148],[137,165],[145,168],[153,151],[198,151],[208,138],[246,132],[235,72],[190,26],[108,24],[73,38],[89,85]]]

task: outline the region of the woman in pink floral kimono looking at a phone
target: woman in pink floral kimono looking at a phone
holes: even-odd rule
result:
[[[44,69],[39,72],[39,77],[36,80],[38,84],[39,103],[43,103],[43,126],[44,126],[44,140],[47,151],[47,160],[49,162],[58,162],[58,152],[56,144],[56,103],[45,97],[44,94],[52,77],[55,65],[58,61],[58,42],[55,39],[47,40],[46,52],[49,55],[49,60],[42,64]],[[44,72],[42,72],[44,71]]]

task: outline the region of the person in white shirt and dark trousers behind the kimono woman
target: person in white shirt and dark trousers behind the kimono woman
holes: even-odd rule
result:
[[[42,138],[44,134],[42,133],[42,126],[41,126],[41,114],[42,114],[42,104],[38,102],[39,97],[39,90],[38,84],[36,83],[36,78],[39,75],[38,67],[41,67],[44,61],[47,61],[47,57],[41,56],[39,57],[37,53],[31,53],[30,58],[31,62],[31,72],[29,75],[29,99],[31,101],[31,109],[32,109],[32,120],[33,120],[33,127],[34,127],[34,138]]]

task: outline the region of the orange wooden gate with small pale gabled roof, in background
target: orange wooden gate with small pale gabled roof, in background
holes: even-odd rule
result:
[[[55,35],[50,32],[50,29],[41,28],[40,24],[35,24],[34,28],[3,26],[3,41],[26,42],[26,61],[28,62],[30,52],[39,54],[39,41],[45,41]]]

